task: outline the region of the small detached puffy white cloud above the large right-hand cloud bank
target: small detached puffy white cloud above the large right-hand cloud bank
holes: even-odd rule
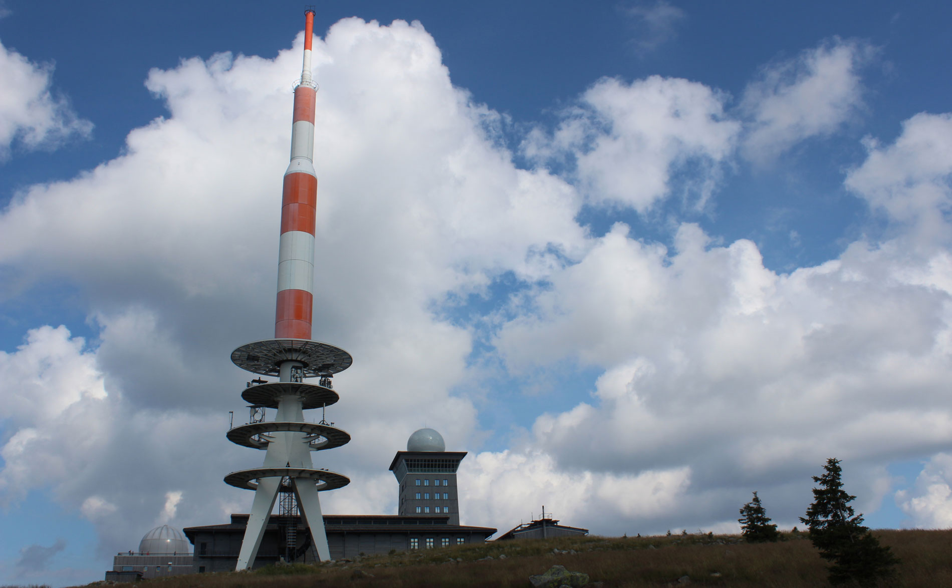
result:
[[[639,213],[670,195],[672,175],[688,162],[704,170],[692,190],[703,206],[740,131],[725,116],[719,92],[657,75],[630,84],[601,80],[563,116],[554,134],[528,137],[526,154],[574,160],[590,202]]]

